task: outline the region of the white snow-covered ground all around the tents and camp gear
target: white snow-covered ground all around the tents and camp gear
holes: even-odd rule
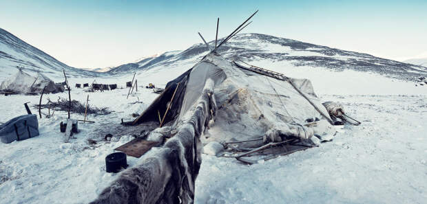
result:
[[[129,89],[85,93],[72,88],[72,99],[107,106],[110,115],[79,124],[81,133],[63,143],[59,122],[67,117],[39,119],[38,137],[0,143],[0,203],[88,203],[118,174],[105,172],[105,156],[125,144],[131,135],[103,141],[112,124],[133,120],[157,95],[145,89],[149,82],[165,84],[192,67],[193,62],[138,71],[138,92]],[[236,159],[203,155],[196,179],[196,203],[426,203],[427,201],[427,87],[356,71],[295,68],[287,62],[255,60],[253,65],[294,78],[309,78],[323,101],[344,104],[360,126],[344,126],[333,141],[247,166]],[[96,82],[124,87],[133,73]],[[52,78],[55,82],[63,78]],[[70,84],[92,83],[94,78],[70,78]],[[67,93],[43,95],[56,100]],[[39,95],[0,95],[0,122],[26,114],[24,102],[39,103]],[[137,101],[143,102],[134,103]],[[38,110],[31,108],[34,114]],[[47,110],[43,110],[47,113]],[[72,113],[83,120],[83,114]],[[97,140],[90,145],[87,139]],[[147,152],[151,154],[152,151]],[[144,157],[144,156],[143,156]],[[127,157],[129,166],[142,158]]]

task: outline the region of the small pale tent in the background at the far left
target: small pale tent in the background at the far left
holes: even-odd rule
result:
[[[37,76],[30,76],[21,69],[12,77],[1,82],[0,90],[14,91],[16,93],[58,93],[63,92],[61,84],[55,84],[50,78],[37,73]]]

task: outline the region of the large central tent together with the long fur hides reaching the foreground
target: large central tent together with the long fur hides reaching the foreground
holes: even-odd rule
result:
[[[203,144],[254,139],[254,147],[296,139],[315,146],[333,137],[330,120],[309,80],[272,78],[208,54],[127,123],[147,126],[147,140],[161,148],[92,203],[193,203]]]

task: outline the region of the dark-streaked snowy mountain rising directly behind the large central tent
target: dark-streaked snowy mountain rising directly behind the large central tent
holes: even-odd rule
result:
[[[222,41],[220,39],[219,41]],[[213,47],[214,41],[209,42]],[[196,44],[183,52],[167,52],[154,58],[145,58],[138,63],[129,63],[115,67],[109,73],[125,73],[155,67],[180,65],[182,62],[196,63],[209,50],[202,44]],[[314,45],[288,38],[278,38],[266,34],[238,34],[222,45],[218,52],[229,60],[287,60],[295,67],[324,67],[335,71],[353,69],[379,73],[390,78],[415,81],[427,76],[427,67],[401,63],[395,60],[377,58],[370,54]]]

